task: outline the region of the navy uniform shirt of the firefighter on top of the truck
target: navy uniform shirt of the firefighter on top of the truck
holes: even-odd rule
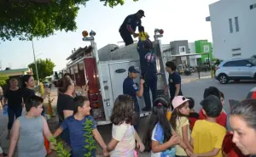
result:
[[[129,32],[129,31],[127,30],[127,25],[131,25],[131,29],[132,29],[133,31],[136,31],[137,26],[142,25],[142,20],[138,19],[138,18],[136,17],[136,14],[130,14],[130,15],[128,15],[128,16],[125,18],[123,24],[120,26],[119,31],[120,31],[120,32]],[[129,34],[130,34],[130,32],[129,32]]]

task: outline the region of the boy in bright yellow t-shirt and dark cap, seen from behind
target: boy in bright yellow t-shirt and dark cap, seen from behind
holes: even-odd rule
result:
[[[217,117],[222,112],[220,99],[210,95],[201,101],[201,106],[206,120],[195,122],[190,140],[194,146],[194,154],[203,157],[222,157],[221,148],[226,129],[217,123]]]

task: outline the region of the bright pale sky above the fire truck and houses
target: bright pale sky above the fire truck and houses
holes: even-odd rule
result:
[[[37,59],[51,59],[55,63],[54,70],[66,67],[67,57],[73,48],[84,48],[88,42],[82,41],[82,31],[96,31],[97,48],[108,43],[121,42],[119,26],[129,14],[143,9],[146,17],[142,24],[149,36],[153,36],[154,28],[165,31],[161,42],[164,44],[175,40],[207,39],[212,41],[211,23],[206,21],[209,16],[209,4],[218,0],[125,0],[123,6],[109,8],[99,0],[90,0],[86,7],[79,10],[76,19],[77,31],[56,31],[54,36],[34,41]],[[14,39],[0,43],[0,61],[2,69],[25,68],[33,62],[32,42]]]

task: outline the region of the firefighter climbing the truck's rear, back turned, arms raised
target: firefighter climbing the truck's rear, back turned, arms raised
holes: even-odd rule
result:
[[[139,40],[139,42],[137,42],[137,52],[139,53],[142,69],[141,74],[145,80],[143,97],[146,106],[143,108],[143,111],[151,111],[152,109],[149,89],[151,90],[153,101],[157,98],[156,55],[152,42],[149,39],[147,40],[147,47],[144,47],[143,41]]]

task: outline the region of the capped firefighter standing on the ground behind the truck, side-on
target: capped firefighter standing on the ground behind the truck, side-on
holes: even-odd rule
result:
[[[137,78],[137,74],[140,73],[134,66],[130,66],[128,69],[128,76],[123,82],[123,93],[130,95],[134,102],[134,108],[137,113],[137,124],[134,126],[136,131],[138,131],[138,123],[140,118],[140,107],[137,101],[137,97],[143,97],[143,83],[144,80],[141,79],[139,87],[134,83],[133,79]]]

